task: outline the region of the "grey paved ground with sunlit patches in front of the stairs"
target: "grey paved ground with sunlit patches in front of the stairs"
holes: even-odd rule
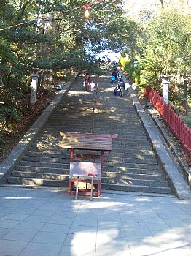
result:
[[[191,255],[191,202],[175,197],[0,187],[0,255]]]

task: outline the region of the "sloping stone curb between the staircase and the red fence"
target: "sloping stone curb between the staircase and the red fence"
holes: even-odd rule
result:
[[[162,140],[160,140],[160,135],[155,126],[152,123],[152,120],[149,118],[147,113],[141,106],[141,103],[136,97],[136,94],[131,89],[129,83],[127,82],[124,75],[122,78],[125,82],[125,86],[128,89],[130,98],[132,99],[133,105],[136,108],[136,112],[139,115],[144,129],[147,132],[148,138],[152,143],[152,148],[154,149],[157,159],[163,167],[166,178],[168,179],[168,184],[171,187],[172,192],[182,200],[191,200],[191,190],[187,182],[182,177],[178,168],[176,167],[173,159],[171,159],[167,149],[165,148]]]

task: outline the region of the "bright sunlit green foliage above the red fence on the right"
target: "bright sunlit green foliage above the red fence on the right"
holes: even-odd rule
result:
[[[167,76],[171,82],[170,104],[176,112],[184,113],[185,96],[183,86],[179,86],[179,77],[191,78],[191,15],[188,6],[176,8],[173,3],[137,24],[136,43],[130,44],[128,56],[131,61],[125,70],[139,86],[149,85],[159,94],[162,94],[159,78]],[[135,57],[139,59],[138,74],[134,73],[132,67]],[[190,85],[187,90],[189,103]]]

